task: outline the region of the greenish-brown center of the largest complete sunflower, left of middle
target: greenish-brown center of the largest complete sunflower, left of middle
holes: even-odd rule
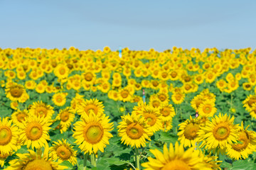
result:
[[[84,137],[85,140],[91,144],[96,144],[97,142],[100,142],[102,139],[104,130],[102,128],[102,125],[98,123],[93,123],[91,125],[87,125],[87,127],[84,130]]]

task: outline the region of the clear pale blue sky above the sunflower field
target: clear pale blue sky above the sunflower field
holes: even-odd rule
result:
[[[256,1],[0,0],[0,47],[256,48]]]

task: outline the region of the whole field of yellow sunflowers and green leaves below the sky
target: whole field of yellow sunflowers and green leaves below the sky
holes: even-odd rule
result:
[[[256,50],[0,48],[0,169],[256,169]]]

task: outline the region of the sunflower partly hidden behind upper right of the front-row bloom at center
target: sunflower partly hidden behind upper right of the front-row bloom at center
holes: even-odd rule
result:
[[[141,111],[138,111],[142,117],[146,120],[146,123],[149,125],[148,130],[151,132],[156,132],[161,130],[161,113],[159,113],[159,109],[154,108],[149,105],[145,105]]]

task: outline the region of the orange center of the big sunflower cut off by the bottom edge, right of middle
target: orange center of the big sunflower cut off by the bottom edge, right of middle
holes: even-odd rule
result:
[[[165,164],[163,168],[161,168],[161,170],[169,170],[169,169],[171,169],[171,170],[190,170],[191,168],[185,162],[183,162],[179,159],[174,159],[173,161]]]

